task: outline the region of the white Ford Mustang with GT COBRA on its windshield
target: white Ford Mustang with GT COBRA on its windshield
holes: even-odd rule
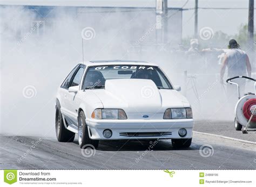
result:
[[[78,64],[57,92],[56,135],[81,148],[99,140],[171,139],[189,147],[190,103],[153,63],[91,61]]]

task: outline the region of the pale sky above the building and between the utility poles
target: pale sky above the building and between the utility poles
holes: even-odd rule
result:
[[[169,0],[169,8],[180,8],[187,0]],[[155,0],[9,0],[0,4],[26,4],[26,5],[62,5],[62,6],[132,6],[132,7],[155,7]],[[184,9],[194,7],[194,0],[188,0]],[[248,0],[199,0],[199,8],[245,8],[245,10],[204,10],[199,9],[198,27],[211,27],[215,31],[223,31],[227,34],[236,34],[241,24],[248,22]],[[255,15],[255,12],[254,12]],[[194,10],[183,12],[183,37],[190,37],[194,30]],[[227,26],[228,25],[228,26]],[[254,20],[254,25],[256,21]],[[255,26],[254,26],[255,27]]]

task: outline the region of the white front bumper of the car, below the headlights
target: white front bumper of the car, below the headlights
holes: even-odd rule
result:
[[[192,138],[193,119],[157,119],[157,120],[92,120],[86,119],[91,139],[187,139]],[[187,134],[181,137],[180,128],[185,128]],[[105,138],[103,131],[112,131],[111,138]]]

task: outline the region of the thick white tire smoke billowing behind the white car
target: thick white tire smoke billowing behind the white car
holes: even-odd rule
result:
[[[148,12],[153,15],[149,22],[142,11],[130,17],[118,9],[104,15],[92,10],[78,17],[70,9],[55,8],[42,18],[22,6],[0,7],[1,133],[55,136],[56,91],[71,69],[82,62],[82,38],[85,60],[159,64],[173,84],[182,86],[196,119],[233,118],[233,109],[223,112],[227,96],[219,76],[207,72],[190,75],[191,66],[184,55],[179,55],[178,44],[138,47],[140,42],[156,38],[154,11]],[[91,19],[90,13],[102,18]],[[180,36],[180,32],[172,32],[172,38]],[[204,57],[201,59],[203,63]],[[198,62],[192,66],[202,68]],[[216,66],[208,64],[206,69],[218,69]]]

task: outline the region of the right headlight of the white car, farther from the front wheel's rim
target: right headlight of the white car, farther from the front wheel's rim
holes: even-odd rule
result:
[[[164,119],[186,119],[193,118],[191,108],[167,109]]]

